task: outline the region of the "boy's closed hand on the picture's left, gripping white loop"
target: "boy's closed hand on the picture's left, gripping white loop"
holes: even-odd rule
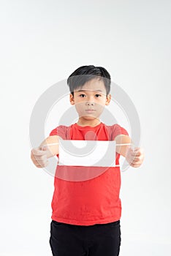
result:
[[[46,148],[33,148],[31,150],[31,160],[38,168],[46,167],[48,165]]]

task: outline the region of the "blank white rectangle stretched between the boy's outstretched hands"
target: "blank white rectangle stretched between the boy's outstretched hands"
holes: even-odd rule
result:
[[[58,165],[115,167],[115,140],[59,140]]]

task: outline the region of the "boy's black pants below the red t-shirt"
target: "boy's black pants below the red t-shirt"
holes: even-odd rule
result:
[[[118,256],[120,227],[120,220],[91,226],[52,220],[49,242],[53,256]]]

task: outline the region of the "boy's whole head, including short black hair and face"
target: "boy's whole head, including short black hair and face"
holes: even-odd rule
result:
[[[83,66],[69,75],[70,102],[75,105],[80,121],[99,119],[109,105],[110,74],[104,67]]]

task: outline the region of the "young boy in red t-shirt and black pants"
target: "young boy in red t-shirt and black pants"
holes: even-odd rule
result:
[[[126,157],[132,167],[139,167],[144,159],[142,148],[134,151],[126,129],[118,124],[108,126],[99,120],[105,105],[110,104],[110,74],[104,67],[79,67],[67,83],[70,103],[75,105],[78,121],[66,127],[60,125],[50,132],[39,146],[31,151],[37,167],[45,167],[47,159],[58,157],[58,139],[115,140],[115,165],[119,157]],[[93,135],[93,136],[92,136]],[[51,146],[42,146],[53,144]],[[122,144],[122,146],[119,146]],[[59,156],[60,158],[60,156]],[[72,170],[72,167],[70,167]],[[78,166],[77,170],[94,167]],[[66,181],[54,178],[50,247],[53,256],[118,256],[121,245],[121,173],[119,166],[107,167],[95,178],[86,181]]]

